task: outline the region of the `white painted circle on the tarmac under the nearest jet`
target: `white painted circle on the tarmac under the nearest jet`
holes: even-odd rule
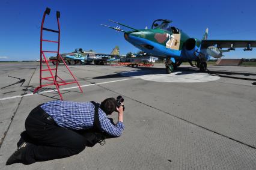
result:
[[[159,72],[159,71],[156,71]],[[161,71],[162,72],[162,71]],[[210,82],[219,80],[219,76],[212,76],[208,73],[200,73],[194,71],[177,71],[171,74],[160,73],[154,74],[153,70],[132,70],[121,73],[123,77],[138,77],[143,80],[154,82],[173,82],[173,83],[197,83],[197,82]]]

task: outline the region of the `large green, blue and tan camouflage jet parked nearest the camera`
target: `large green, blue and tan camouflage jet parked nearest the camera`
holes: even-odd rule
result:
[[[171,26],[172,21],[166,19],[154,20],[151,29],[135,29],[113,20],[109,21],[130,28],[132,31],[124,31],[120,29],[120,26],[114,28],[102,25],[124,32],[124,38],[138,49],[159,58],[166,58],[166,73],[171,73],[174,68],[185,61],[193,67],[200,68],[200,71],[206,71],[206,61],[210,59],[210,56],[221,58],[223,52],[241,47],[244,47],[243,50],[246,51],[256,47],[254,40],[207,40],[208,28],[201,40],[192,38],[181,29]],[[196,61],[196,66],[192,64],[192,61]]]

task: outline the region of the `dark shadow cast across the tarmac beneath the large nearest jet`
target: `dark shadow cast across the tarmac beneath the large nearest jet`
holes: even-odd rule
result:
[[[175,76],[184,75],[184,74],[200,73],[198,68],[194,68],[194,67],[180,67],[180,68],[177,68],[177,70],[175,70],[174,73],[175,72],[178,72],[175,74]],[[126,74],[126,73],[129,73],[129,74]],[[211,76],[219,76],[219,77],[226,77],[226,78],[230,78],[230,79],[256,81],[256,79],[248,77],[248,76],[256,76],[256,73],[243,73],[243,72],[227,71],[227,70],[207,70],[206,73],[210,74]],[[165,68],[140,67],[139,69],[136,69],[134,71],[124,71],[124,72],[109,74],[109,75],[105,75],[105,76],[98,76],[98,77],[93,77],[93,79],[108,79],[108,78],[117,78],[117,77],[144,76],[144,75],[150,75],[150,74],[165,74]],[[239,76],[233,76],[233,75],[239,75]],[[242,77],[242,76],[245,76],[245,77]]]

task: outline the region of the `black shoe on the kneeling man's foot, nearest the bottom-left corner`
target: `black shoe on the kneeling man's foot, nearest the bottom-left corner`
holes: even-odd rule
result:
[[[11,165],[13,163],[21,163],[22,162],[22,154],[25,153],[26,147],[29,144],[27,142],[23,142],[19,148],[9,157],[5,165]]]

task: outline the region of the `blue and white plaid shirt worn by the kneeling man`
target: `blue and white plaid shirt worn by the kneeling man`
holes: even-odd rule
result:
[[[41,108],[53,118],[58,126],[76,130],[93,127],[95,108],[91,102],[56,100],[44,103]],[[106,133],[112,136],[121,136],[124,130],[124,124],[121,121],[118,121],[114,126],[100,108],[99,120],[100,126]]]

